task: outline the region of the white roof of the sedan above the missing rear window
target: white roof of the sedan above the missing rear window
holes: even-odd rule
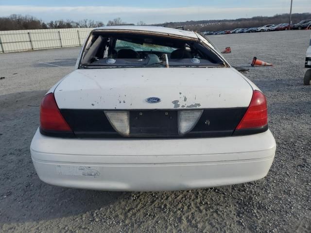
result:
[[[98,27],[94,28],[94,31],[104,31],[104,30],[129,30],[129,31],[141,31],[141,32],[153,32],[153,33],[165,33],[165,34],[173,34],[178,36],[186,36],[192,38],[198,38],[196,33],[192,31],[184,31],[181,29],[174,29],[174,28],[165,28],[161,26],[105,26],[105,27]]]

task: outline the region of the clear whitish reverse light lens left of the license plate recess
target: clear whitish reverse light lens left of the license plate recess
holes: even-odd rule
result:
[[[110,112],[104,111],[112,127],[121,135],[128,136],[130,134],[130,116],[129,112]]]

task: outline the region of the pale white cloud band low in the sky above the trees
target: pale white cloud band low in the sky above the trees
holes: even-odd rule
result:
[[[300,1],[299,3],[304,2]],[[272,16],[284,13],[277,4],[270,6],[252,7],[176,7],[176,8],[144,8],[124,6],[27,6],[27,5],[2,5],[0,15],[11,14],[32,15],[44,21],[55,19],[80,20],[83,18],[101,20],[106,22],[109,19],[121,17],[128,23],[136,23],[143,20],[146,23],[163,23],[165,21],[185,21],[201,19],[224,19],[253,16]],[[294,13],[309,12],[311,8],[296,4]],[[286,12],[287,13],[287,12]]]

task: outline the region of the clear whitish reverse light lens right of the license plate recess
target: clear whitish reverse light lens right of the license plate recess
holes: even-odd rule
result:
[[[196,125],[203,110],[179,111],[178,112],[178,134],[189,133]]]

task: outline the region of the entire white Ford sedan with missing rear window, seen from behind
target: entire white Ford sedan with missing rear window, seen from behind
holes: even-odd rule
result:
[[[186,190],[265,177],[276,142],[265,96],[204,35],[111,26],[42,99],[30,150],[46,183]]]

